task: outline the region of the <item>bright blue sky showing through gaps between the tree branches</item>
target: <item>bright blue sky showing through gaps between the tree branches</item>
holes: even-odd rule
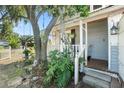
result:
[[[40,30],[46,28],[51,19],[52,17],[49,16],[47,12],[41,15],[38,21]],[[13,31],[19,35],[33,35],[32,26],[29,22],[27,24],[23,21],[19,22],[18,25],[13,28]]]

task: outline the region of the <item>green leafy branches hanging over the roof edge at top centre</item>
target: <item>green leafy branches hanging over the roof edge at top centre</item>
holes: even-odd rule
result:
[[[60,9],[63,10],[63,16],[74,16],[80,14],[81,17],[88,16],[89,6],[88,5],[49,5],[46,6],[46,10],[52,16],[60,16]]]

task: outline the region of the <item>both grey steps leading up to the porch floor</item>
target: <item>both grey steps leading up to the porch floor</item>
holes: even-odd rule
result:
[[[84,67],[85,76],[83,82],[93,87],[109,88],[111,87],[113,73]]]

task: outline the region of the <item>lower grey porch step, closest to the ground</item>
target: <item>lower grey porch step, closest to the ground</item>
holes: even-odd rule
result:
[[[92,76],[84,76],[83,82],[97,88],[109,88],[110,83]]]

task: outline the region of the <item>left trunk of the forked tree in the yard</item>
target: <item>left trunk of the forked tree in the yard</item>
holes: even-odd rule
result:
[[[36,6],[25,6],[25,10],[27,12],[27,17],[30,20],[32,25],[33,34],[34,34],[34,45],[35,45],[35,60],[38,65],[41,63],[41,38],[40,38],[40,29],[37,23],[36,18]]]

